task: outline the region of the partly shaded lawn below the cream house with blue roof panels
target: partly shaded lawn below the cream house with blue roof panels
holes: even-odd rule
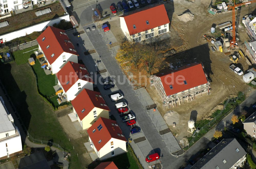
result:
[[[128,145],[127,147],[127,153],[121,154],[119,156],[115,156],[113,158],[104,160],[102,162],[106,162],[106,161],[113,161],[115,165],[121,169],[125,169],[125,168],[142,169],[142,166],[139,163],[135,154],[133,153],[133,150],[130,145]]]

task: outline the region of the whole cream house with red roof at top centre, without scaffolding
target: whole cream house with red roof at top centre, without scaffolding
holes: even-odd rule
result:
[[[164,4],[120,16],[124,35],[134,42],[169,32],[169,23]]]

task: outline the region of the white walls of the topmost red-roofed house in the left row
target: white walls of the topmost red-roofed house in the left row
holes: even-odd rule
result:
[[[40,45],[38,45],[38,49],[44,54],[44,51],[41,49]],[[45,57],[45,54],[44,54]],[[47,58],[45,57],[45,60],[47,61],[52,74],[56,74],[60,71],[60,69],[68,62],[75,62],[78,63],[78,58],[77,55],[74,55],[72,53],[67,53],[67,52],[63,52],[60,56],[58,56],[58,58],[52,63],[50,64],[47,60]]]

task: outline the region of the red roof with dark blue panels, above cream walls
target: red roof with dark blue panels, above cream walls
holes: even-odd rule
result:
[[[98,126],[101,124],[102,129],[99,131]],[[113,124],[113,125],[112,125]],[[126,138],[123,135],[122,130],[120,129],[119,125],[116,121],[111,119],[106,119],[103,117],[100,117],[95,123],[92,124],[92,126],[87,129],[87,133],[89,137],[91,138],[93,145],[99,151],[111,138],[127,141]],[[92,131],[95,129],[95,132]],[[101,142],[99,143],[99,141]]]

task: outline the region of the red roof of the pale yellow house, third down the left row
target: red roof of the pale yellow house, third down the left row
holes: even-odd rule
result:
[[[80,120],[83,120],[94,107],[110,111],[100,92],[88,89],[83,89],[76,98],[71,101],[71,104],[76,110]],[[85,110],[82,112],[83,109]]]

